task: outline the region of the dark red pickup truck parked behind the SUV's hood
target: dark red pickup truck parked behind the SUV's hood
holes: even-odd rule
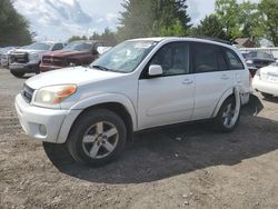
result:
[[[89,64],[99,57],[98,47],[106,47],[106,42],[90,40],[70,42],[62,50],[44,53],[40,70],[46,72],[69,66]]]

